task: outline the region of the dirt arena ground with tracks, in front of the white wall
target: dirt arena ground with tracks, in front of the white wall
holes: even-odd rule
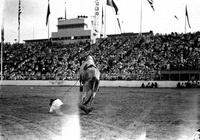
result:
[[[200,89],[100,88],[94,111],[79,112],[78,88],[1,86],[0,140],[192,140]],[[49,99],[65,103],[49,114]]]

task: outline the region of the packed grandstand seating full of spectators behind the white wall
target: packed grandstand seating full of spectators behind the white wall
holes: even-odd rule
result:
[[[121,34],[73,44],[4,44],[4,80],[75,80],[86,55],[103,80],[155,80],[162,70],[200,70],[200,32]]]

